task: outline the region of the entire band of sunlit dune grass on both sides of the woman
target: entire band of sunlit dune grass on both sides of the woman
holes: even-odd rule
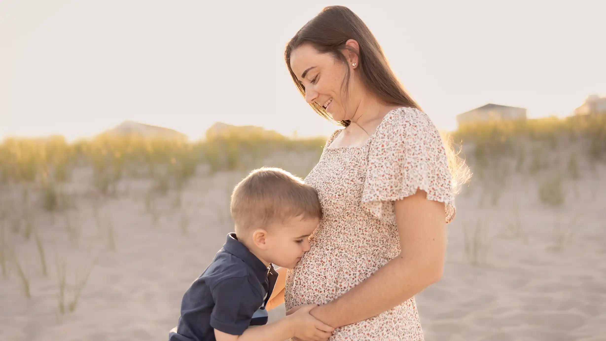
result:
[[[567,178],[580,176],[581,158],[583,161],[587,157],[593,161],[606,160],[606,115],[466,124],[448,135],[449,143],[457,142],[455,149],[464,146],[464,158],[473,167],[474,178],[498,180],[494,186],[487,187],[488,192],[481,198],[482,202],[485,200],[493,205],[499,203],[502,188],[512,175],[525,173],[540,177],[544,170],[553,168],[553,160],[548,158],[550,151],[564,146],[567,141],[580,141],[580,153],[585,153],[585,156],[571,154],[569,160],[564,160]],[[526,141],[533,143],[528,146]],[[316,153],[310,157],[309,164],[301,159],[300,164],[292,166],[295,169],[287,169],[305,177],[321,154],[324,143],[324,138],[292,139],[268,130],[244,127],[208,131],[205,140],[196,142],[138,135],[99,135],[75,143],[67,143],[62,137],[7,138],[0,143],[0,183],[23,184],[27,191],[38,191],[32,194],[41,198],[35,203],[41,203],[44,210],[67,213],[72,206],[70,201],[74,200],[65,194],[62,183],[70,180],[81,167],[92,169],[88,181],[95,195],[101,198],[118,194],[118,184],[125,178],[147,177],[151,179],[151,187],[144,199],[145,210],[153,222],[158,223],[161,212],[156,200],[175,194],[173,208],[181,208],[181,189],[196,175],[199,166],[204,166],[210,174],[244,174],[259,166],[285,167],[281,164],[281,155]],[[502,162],[504,158],[510,158],[511,162]],[[231,192],[233,184],[235,181],[228,181],[225,192]],[[541,186],[544,189],[539,190],[539,197],[545,203],[557,205],[562,201],[558,198],[557,181]],[[24,200],[29,195],[24,192]],[[24,203],[16,211],[27,210],[29,206],[30,203]],[[217,209],[219,220],[226,222],[228,209],[224,205]],[[31,234],[31,220],[15,215],[10,222],[13,231],[22,231],[26,236]],[[101,231],[101,223],[96,224]],[[76,240],[78,231],[68,217],[66,225],[70,236]]]

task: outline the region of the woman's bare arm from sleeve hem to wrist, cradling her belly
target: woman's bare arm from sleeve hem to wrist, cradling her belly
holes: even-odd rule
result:
[[[442,277],[446,249],[444,203],[418,190],[395,203],[401,244],[398,257],[364,282],[310,314],[335,328],[381,314]]]

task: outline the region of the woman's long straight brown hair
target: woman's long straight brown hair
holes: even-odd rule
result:
[[[345,46],[348,39],[358,42],[359,52]],[[387,104],[421,109],[391,71],[387,58],[373,33],[349,8],[344,6],[324,7],[322,12],[308,21],[288,42],[284,51],[284,59],[297,89],[301,95],[305,96],[305,87],[299,82],[290,67],[290,54],[302,44],[311,44],[318,52],[330,53],[343,62],[345,66],[343,86],[346,93],[351,74],[347,59],[341,51],[348,49],[358,55],[358,69],[362,83],[370,92]],[[331,120],[324,107],[315,102],[310,103],[310,106],[315,112]],[[350,122],[339,121],[338,123],[347,127]]]

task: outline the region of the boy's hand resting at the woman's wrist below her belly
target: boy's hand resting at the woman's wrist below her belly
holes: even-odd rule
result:
[[[322,323],[309,314],[309,311],[315,306],[316,305],[303,305],[295,307],[298,308],[296,312],[291,312],[289,317],[287,317],[292,323],[296,339],[304,341],[326,341],[333,334],[335,328]]]

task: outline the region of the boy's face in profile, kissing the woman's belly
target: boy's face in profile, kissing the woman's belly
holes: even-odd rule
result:
[[[305,252],[309,251],[309,235],[319,223],[319,218],[302,220],[292,217],[284,223],[275,223],[267,229],[265,258],[283,268],[295,268]]]

